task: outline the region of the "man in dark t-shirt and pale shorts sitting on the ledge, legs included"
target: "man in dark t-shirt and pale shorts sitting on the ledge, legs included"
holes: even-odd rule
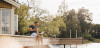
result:
[[[33,25],[29,27],[29,31],[30,31],[31,36],[36,37],[37,45],[40,45],[39,43],[41,42],[41,47],[43,48],[43,35],[38,33],[37,26],[38,26],[38,22],[36,21],[34,22]]]

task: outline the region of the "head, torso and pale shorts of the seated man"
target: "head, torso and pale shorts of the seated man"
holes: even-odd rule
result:
[[[30,36],[36,37],[38,35],[38,22],[34,22],[33,25],[29,26]]]

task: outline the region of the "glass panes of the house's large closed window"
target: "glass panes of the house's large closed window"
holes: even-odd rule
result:
[[[2,34],[10,34],[10,10],[3,9],[1,10],[1,27]]]

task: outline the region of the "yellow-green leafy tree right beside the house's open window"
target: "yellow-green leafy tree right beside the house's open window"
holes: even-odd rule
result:
[[[15,10],[15,14],[18,15],[18,30],[21,34],[24,34],[28,30],[28,20],[29,17],[29,7],[26,5],[21,5],[20,8]]]

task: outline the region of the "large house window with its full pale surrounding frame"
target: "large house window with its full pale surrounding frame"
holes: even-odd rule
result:
[[[0,30],[1,34],[11,34],[10,32],[10,24],[11,24],[11,9],[0,8]]]

